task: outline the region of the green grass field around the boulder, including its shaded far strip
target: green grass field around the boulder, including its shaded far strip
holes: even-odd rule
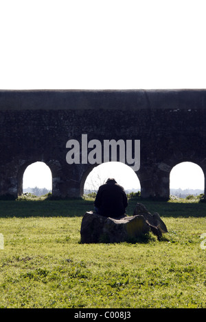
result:
[[[0,308],[206,308],[206,203],[141,202],[161,241],[81,244],[91,200],[0,201]]]

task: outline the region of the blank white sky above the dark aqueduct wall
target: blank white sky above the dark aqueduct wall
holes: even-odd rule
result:
[[[205,88],[205,8],[205,0],[0,0],[0,89]]]

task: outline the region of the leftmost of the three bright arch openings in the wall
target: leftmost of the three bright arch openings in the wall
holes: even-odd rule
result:
[[[52,193],[52,171],[45,162],[34,162],[23,173],[23,193],[36,196]]]

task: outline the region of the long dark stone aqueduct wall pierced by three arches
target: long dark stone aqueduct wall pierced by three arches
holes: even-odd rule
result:
[[[143,198],[168,199],[180,162],[206,173],[206,90],[1,90],[0,197],[22,193],[28,165],[52,171],[54,197],[80,197],[96,164],[68,164],[66,143],[140,140]]]

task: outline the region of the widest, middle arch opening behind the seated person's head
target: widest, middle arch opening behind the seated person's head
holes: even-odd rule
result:
[[[99,164],[91,170],[84,182],[84,194],[96,193],[108,177],[115,178],[117,184],[123,186],[126,193],[135,193],[141,190],[139,178],[135,171],[122,162],[112,161]]]

